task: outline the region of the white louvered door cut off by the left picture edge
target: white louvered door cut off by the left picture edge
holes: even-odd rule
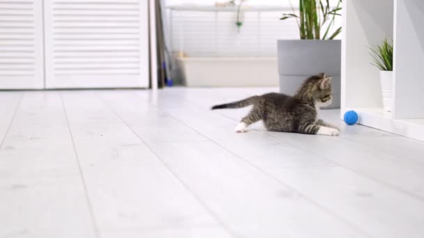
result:
[[[0,89],[44,88],[43,2],[0,0]]]

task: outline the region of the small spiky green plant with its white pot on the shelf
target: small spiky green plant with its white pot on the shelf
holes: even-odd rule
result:
[[[384,111],[391,111],[393,105],[393,42],[384,40],[381,45],[370,48],[372,65],[380,70],[381,95]]]

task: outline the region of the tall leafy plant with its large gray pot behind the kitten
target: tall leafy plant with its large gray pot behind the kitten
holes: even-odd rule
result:
[[[299,0],[299,10],[280,19],[296,19],[299,40],[278,40],[278,74],[280,91],[292,95],[305,77],[325,72],[333,77],[333,103],[340,107],[341,42],[334,40],[342,31],[334,29],[340,16],[342,0],[331,6],[329,0]]]

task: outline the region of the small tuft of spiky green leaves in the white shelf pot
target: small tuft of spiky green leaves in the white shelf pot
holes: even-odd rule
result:
[[[381,71],[393,71],[393,41],[385,39],[381,45],[370,47],[370,55],[375,67]]]

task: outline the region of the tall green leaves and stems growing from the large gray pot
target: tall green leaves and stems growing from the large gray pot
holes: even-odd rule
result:
[[[285,13],[280,19],[296,18],[299,32],[302,40],[333,40],[340,32],[340,26],[331,35],[335,17],[340,16],[342,10],[342,0],[338,0],[337,6],[330,7],[330,0],[299,0],[299,14],[297,15],[292,6],[293,13]],[[324,4],[324,3],[325,4]],[[326,26],[324,35],[321,37],[321,30]]]

